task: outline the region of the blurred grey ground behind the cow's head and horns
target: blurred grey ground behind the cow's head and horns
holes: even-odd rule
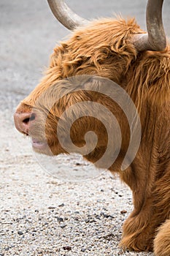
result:
[[[146,0],[67,0],[77,14],[87,19],[136,17],[146,28]],[[39,82],[55,45],[69,30],[55,20],[46,0],[0,0],[0,103],[1,110],[20,102]],[[169,35],[170,3],[164,1],[163,20]]]

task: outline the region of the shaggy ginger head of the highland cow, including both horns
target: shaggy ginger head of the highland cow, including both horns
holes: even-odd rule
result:
[[[122,18],[115,20],[110,18],[89,22],[75,15],[63,1],[48,0],[48,2],[55,17],[74,32],[69,40],[55,48],[45,78],[26,99],[20,102],[15,112],[15,126],[23,134],[31,136],[35,151],[49,154],[48,145],[53,154],[60,154],[66,152],[56,136],[58,120],[62,113],[77,102],[98,102],[109,108],[120,121],[120,128],[125,135],[124,151],[129,143],[129,132],[127,132],[129,128],[123,121],[125,120],[123,111],[106,95],[82,90],[82,84],[85,86],[96,83],[96,87],[102,86],[101,80],[99,82],[97,78],[100,76],[114,81],[135,97],[134,91],[138,89],[133,83],[133,76],[136,67],[146,56],[146,51],[161,51],[166,48],[166,36],[161,18],[163,1],[148,1],[147,33],[139,28],[134,19],[125,21]],[[74,78],[66,80],[76,76],[79,78],[82,76],[80,84]],[[131,83],[130,87],[127,86],[129,83]],[[98,135],[96,148],[103,148],[103,150],[97,149],[96,158],[106,150],[108,139],[106,129],[97,117],[79,118],[71,129],[72,141],[78,147],[85,145],[86,132],[89,130],[96,132]],[[93,157],[94,162],[95,160]]]

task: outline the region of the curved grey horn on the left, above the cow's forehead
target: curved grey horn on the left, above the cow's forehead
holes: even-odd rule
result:
[[[81,18],[66,5],[63,0],[47,0],[55,18],[57,18],[67,29],[73,30],[78,26],[88,23],[88,20]]]

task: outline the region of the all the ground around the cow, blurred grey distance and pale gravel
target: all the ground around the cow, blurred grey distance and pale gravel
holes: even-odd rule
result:
[[[69,3],[85,18],[114,10],[136,15],[144,27],[146,1],[87,0],[87,8],[84,1]],[[55,178],[36,162],[29,141],[15,131],[16,105],[36,86],[55,42],[68,31],[55,22],[45,0],[0,0],[0,12],[0,256],[151,256],[123,252],[118,246],[132,210],[128,187],[108,172],[88,181],[65,181],[64,172],[96,172],[75,155],[55,159]],[[169,8],[164,12],[168,30]]]

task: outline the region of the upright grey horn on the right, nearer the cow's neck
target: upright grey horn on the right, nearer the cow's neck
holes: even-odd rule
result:
[[[147,2],[147,34],[136,34],[132,38],[137,50],[165,50],[166,34],[163,29],[162,7],[163,0]]]

